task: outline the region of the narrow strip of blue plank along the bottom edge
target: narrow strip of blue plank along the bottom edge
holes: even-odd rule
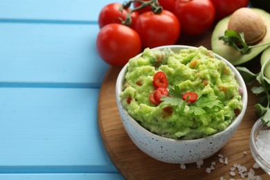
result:
[[[98,179],[98,180],[121,180],[120,174],[0,174],[0,179],[5,180],[89,180],[89,179]]]

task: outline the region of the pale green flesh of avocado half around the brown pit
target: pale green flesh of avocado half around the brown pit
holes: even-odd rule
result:
[[[265,34],[263,39],[255,45],[270,42],[270,14],[258,8],[251,9],[257,12],[260,17],[262,17],[267,28],[267,33]],[[220,35],[224,34],[225,30],[227,30],[230,17],[231,16],[225,17],[224,19],[220,20],[215,26],[211,37],[212,50],[214,51],[214,53],[221,55],[233,65],[243,64],[244,62],[248,62],[249,60],[252,60],[255,56],[262,53],[262,51],[264,51],[264,49],[267,48],[269,45],[251,48],[251,51],[248,54],[243,55],[239,51],[235,50],[235,48],[224,44],[224,42],[222,40],[219,40],[218,38]]]

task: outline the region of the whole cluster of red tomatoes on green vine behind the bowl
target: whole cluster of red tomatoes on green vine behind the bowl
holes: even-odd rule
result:
[[[97,50],[111,66],[124,66],[143,48],[175,44],[181,33],[201,35],[215,19],[248,3],[249,0],[132,0],[127,6],[110,3],[100,11]]]

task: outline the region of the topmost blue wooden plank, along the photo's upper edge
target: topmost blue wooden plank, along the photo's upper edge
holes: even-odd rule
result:
[[[97,21],[100,10],[107,3],[123,0],[0,0],[0,21],[46,20],[46,21]]]

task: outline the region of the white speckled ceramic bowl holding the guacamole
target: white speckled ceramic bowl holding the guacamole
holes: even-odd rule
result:
[[[179,51],[183,48],[195,48],[192,46],[160,46],[158,49],[171,48],[172,51]],[[139,54],[141,55],[141,54]],[[125,73],[127,71],[127,65],[120,71],[116,81],[116,102],[120,111],[120,117],[125,127],[125,131],[132,139],[134,144],[145,154],[148,154],[154,159],[163,161],[165,163],[195,163],[199,160],[206,159],[218,150],[220,150],[228,140],[233,136],[237,128],[239,127],[244,117],[247,106],[247,91],[246,85],[240,73],[235,67],[219,55],[215,55],[219,60],[226,62],[235,72],[235,79],[243,89],[243,109],[242,112],[235,118],[233,123],[229,125],[224,131],[206,138],[199,138],[194,140],[175,140],[171,138],[164,138],[149,132],[147,129],[137,123],[134,118],[129,116],[125,108],[120,102],[120,93],[123,90],[123,84],[125,82]]]

